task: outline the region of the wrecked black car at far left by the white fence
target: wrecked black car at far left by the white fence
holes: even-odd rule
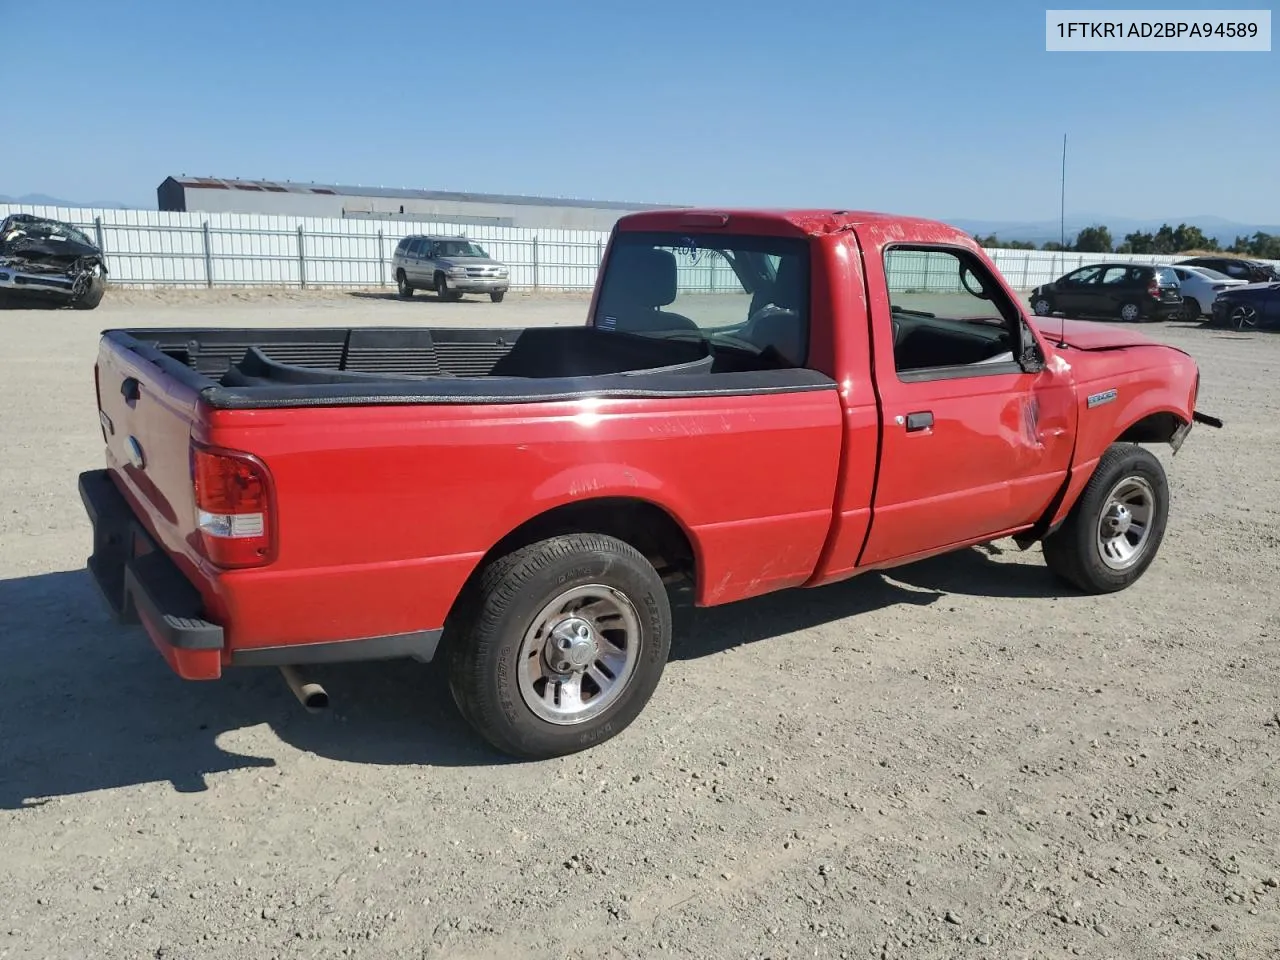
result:
[[[105,293],[106,257],[78,229],[32,214],[0,223],[0,296],[52,297],[92,310]]]

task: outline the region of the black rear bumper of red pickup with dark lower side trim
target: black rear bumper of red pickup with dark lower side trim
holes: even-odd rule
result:
[[[218,680],[223,666],[279,667],[435,657],[443,631],[233,649],[223,625],[204,616],[204,598],[138,521],[108,470],[79,476],[79,494],[93,526],[87,566],[113,617],[141,625],[183,680]]]

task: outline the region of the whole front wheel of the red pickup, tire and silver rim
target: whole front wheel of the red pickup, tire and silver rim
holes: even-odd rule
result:
[[[1156,558],[1167,521],[1165,468],[1149,451],[1116,443],[1062,526],[1044,538],[1044,562],[1085,593],[1123,590]]]

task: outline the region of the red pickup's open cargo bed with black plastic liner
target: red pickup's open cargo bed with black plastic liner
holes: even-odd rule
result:
[[[591,326],[118,329],[210,406],[512,403],[829,388],[771,356]]]

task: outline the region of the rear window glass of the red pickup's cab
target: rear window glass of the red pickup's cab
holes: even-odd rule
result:
[[[809,247],[791,237],[620,232],[593,323],[756,353],[772,347],[799,366],[809,346]]]

